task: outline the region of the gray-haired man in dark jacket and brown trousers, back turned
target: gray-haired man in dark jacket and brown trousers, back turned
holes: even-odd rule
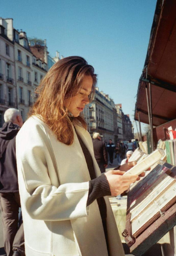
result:
[[[4,113],[4,120],[0,128],[0,200],[4,247],[7,256],[19,256],[25,255],[25,249],[23,224],[18,219],[20,196],[15,139],[23,119],[18,109],[9,108]]]

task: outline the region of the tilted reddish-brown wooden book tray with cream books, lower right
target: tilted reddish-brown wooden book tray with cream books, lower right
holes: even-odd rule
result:
[[[160,239],[170,244],[169,250],[174,247],[168,232],[173,232],[176,225],[176,167],[160,160],[146,174],[130,186],[126,226],[122,232],[130,252],[136,256],[143,255]]]

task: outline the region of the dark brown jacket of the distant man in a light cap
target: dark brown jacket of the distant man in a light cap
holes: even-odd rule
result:
[[[94,155],[98,163],[106,164],[108,163],[108,154],[106,150],[105,143],[99,139],[93,139]]]

